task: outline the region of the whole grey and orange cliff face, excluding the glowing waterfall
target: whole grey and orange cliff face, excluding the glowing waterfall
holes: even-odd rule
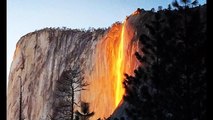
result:
[[[19,119],[20,81],[22,118],[47,120],[53,116],[56,82],[64,70],[76,64],[80,64],[90,84],[77,98],[90,103],[90,110],[95,112],[92,120],[109,117],[115,109],[112,117],[125,116],[126,102],[121,101],[116,108],[116,74],[113,72],[122,25],[125,28],[125,60],[122,62],[125,67],[122,69],[132,74],[138,66],[134,56],[135,51],[140,52],[138,38],[147,33],[145,24],[152,21],[153,16],[152,12],[139,10],[128,16],[125,24],[116,23],[108,30],[46,28],[23,36],[16,45],[10,68],[7,120]]]

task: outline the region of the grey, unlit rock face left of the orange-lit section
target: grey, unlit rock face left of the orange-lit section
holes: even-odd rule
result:
[[[93,32],[43,29],[22,37],[10,68],[7,119],[19,119],[21,80],[22,117],[46,120],[53,112],[55,83],[61,73],[77,62],[84,69],[92,69],[95,46],[104,33],[100,29]]]

